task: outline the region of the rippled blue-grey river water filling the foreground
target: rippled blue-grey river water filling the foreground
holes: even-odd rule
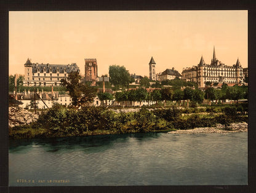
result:
[[[247,133],[10,140],[9,186],[245,184]]]

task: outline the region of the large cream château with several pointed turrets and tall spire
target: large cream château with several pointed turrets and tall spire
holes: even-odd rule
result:
[[[214,47],[214,54],[210,65],[207,65],[204,58],[201,57],[197,66],[183,68],[182,79],[196,82],[199,87],[205,87],[206,82],[239,84],[244,81],[244,74],[239,59],[233,66],[225,65],[217,60]]]

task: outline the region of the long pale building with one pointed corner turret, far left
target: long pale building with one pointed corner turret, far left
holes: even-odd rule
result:
[[[26,60],[24,64],[25,76],[23,85],[25,86],[60,86],[60,80],[66,79],[68,73],[79,72],[78,65],[72,63],[71,65],[50,65],[31,63],[30,59]]]

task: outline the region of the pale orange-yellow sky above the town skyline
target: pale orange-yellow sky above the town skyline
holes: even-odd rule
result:
[[[98,76],[110,65],[149,77],[151,57],[156,73],[167,68],[209,64],[216,58],[247,68],[247,10],[172,11],[11,11],[9,74],[24,74],[32,63],[76,63],[96,58]]]

